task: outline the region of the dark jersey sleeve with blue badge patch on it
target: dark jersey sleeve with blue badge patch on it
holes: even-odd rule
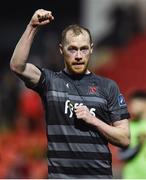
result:
[[[109,83],[108,109],[112,122],[130,118],[125,98],[114,81]]]

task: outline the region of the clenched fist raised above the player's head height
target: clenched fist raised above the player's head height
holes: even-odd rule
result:
[[[50,21],[54,20],[51,11],[47,11],[44,9],[38,9],[35,11],[34,15],[31,18],[30,25],[33,27],[42,26],[50,23]]]

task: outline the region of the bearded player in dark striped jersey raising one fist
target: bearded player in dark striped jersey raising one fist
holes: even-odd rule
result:
[[[62,32],[64,70],[53,72],[27,63],[38,28],[52,20],[51,11],[38,9],[10,61],[11,70],[44,103],[48,178],[112,178],[108,142],[125,147],[130,141],[124,97],[113,80],[89,71],[93,43],[89,30],[80,25]]]

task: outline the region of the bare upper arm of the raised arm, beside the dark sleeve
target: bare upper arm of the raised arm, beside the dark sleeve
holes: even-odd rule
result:
[[[17,73],[20,79],[26,84],[36,85],[41,77],[41,71],[35,65],[27,63],[25,69],[21,73]]]

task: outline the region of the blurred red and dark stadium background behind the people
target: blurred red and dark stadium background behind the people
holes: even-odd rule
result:
[[[130,94],[146,91],[146,0],[5,0],[0,7],[0,178],[47,177],[42,103],[9,68],[16,43],[39,8],[51,10],[55,20],[38,32],[29,62],[61,70],[61,31],[79,23],[89,28],[93,37],[90,69],[119,84],[129,111]],[[110,148],[114,178],[123,178],[127,161],[119,157],[118,148]],[[146,157],[146,149],[144,153]]]

